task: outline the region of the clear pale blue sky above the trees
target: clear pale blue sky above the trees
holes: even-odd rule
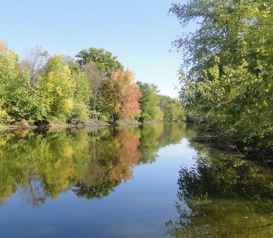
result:
[[[185,2],[185,1],[180,1]],[[0,38],[15,53],[42,46],[50,55],[74,57],[82,49],[104,48],[136,72],[136,79],[178,97],[181,55],[171,42],[179,21],[168,16],[168,0],[2,1]],[[169,52],[169,50],[173,52]]]

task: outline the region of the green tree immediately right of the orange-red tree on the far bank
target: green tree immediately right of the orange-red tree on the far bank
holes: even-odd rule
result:
[[[158,107],[159,90],[155,84],[137,82],[142,97],[140,98],[140,121],[162,120],[163,112]]]

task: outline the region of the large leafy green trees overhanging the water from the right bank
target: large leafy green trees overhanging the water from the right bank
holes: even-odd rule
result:
[[[194,0],[173,3],[182,28],[173,46],[183,55],[182,104],[198,115],[206,140],[248,156],[272,157],[273,3]]]

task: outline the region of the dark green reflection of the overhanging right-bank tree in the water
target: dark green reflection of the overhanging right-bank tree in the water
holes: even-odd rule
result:
[[[173,237],[270,237],[273,234],[272,172],[216,150],[199,155],[179,172],[178,221]]]

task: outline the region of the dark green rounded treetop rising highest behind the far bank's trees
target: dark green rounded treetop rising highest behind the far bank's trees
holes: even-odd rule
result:
[[[96,63],[96,66],[105,72],[106,77],[110,77],[112,70],[123,70],[123,65],[118,62],[117,56],[113,56],[110,51],[105,49],[97,49],[90,47],[89,49],[81,50],[75,57],[79,58],[80,67],[86,65],[90,61]]]

